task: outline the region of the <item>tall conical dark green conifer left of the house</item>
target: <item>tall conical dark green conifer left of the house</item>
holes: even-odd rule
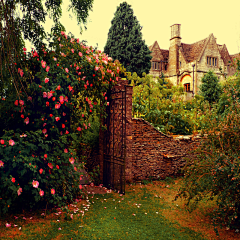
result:
[[[145,41],[142,40],[142,27],[133,15],[131,5],[123,2],[117,7],[111,21],[104,52],[113,60],[118,59],[127,72],[149,73],[152,56]]]

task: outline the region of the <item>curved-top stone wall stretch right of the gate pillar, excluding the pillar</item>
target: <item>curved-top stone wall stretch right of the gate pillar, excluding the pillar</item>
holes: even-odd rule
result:
[[[200,142],[199,137],[173,138],[159,132],[143,119],[132,119],[133,181],[176,175],[185,165],[184,157]]]

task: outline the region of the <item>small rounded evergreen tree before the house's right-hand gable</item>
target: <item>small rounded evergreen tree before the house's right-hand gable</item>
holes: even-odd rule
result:
[[[210,104],[214,102],[217,103],[222,93],[218,77],[211,70],[203,76],[202,84],[199,89],[200,95]]]

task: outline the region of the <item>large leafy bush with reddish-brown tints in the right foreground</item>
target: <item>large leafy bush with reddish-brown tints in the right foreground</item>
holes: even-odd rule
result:
[[[214,224],[239,227],[240,214],[240,104],[229,108],[226,118],[215,119],[203,133],[207,136],[184,168],[184,185],[176,196],[195,209],[203,198],[216,199]]]

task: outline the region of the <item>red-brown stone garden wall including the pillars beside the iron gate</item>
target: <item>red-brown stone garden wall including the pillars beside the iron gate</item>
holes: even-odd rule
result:
[[[123,88],[126,84],[127,81],[120,80],[116,88]],[[187,136],[182,139],[173,138],[159,132],[143,119],[132,118],[132,90],[130,86],[126,88],[126,181],[140,181],[149,177],[164,179],[176,175],[185,165],[183,158],[191,156],[189,152],[199,144],[200,138]],[[101,180],[103,180],[103,160],[104,133],[100,131]]]

